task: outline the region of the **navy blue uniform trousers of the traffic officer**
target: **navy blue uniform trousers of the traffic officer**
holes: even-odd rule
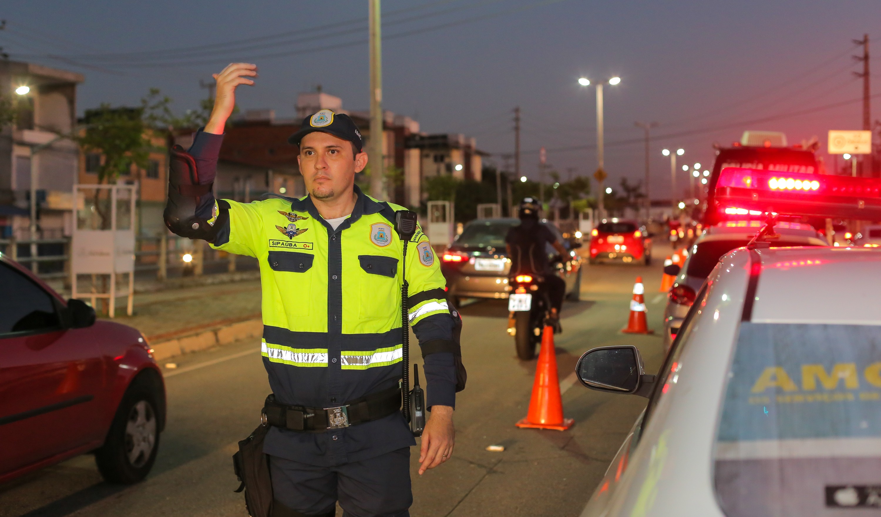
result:
[[[270,472],[276,504],[305,515],[333,515],[339,501],[344,517],[410,517],[410,447],[334,467],[270,456]]]

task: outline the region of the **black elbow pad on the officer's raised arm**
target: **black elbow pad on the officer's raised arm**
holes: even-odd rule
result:
[[[211,196],[213,186],[213,182],[199,184],[196,160],[180,145],[174,145],[168,165],[168,203],[162,214],[168,229],[181,237],[211,242],[218,214],[211,214],[209,223],[209,219],[196,217],[196,209],[204,196]]]

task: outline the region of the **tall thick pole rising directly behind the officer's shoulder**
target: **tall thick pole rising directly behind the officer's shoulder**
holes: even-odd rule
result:
[[[370,195],[385,199],[383,172],[385,159],[382,156],[382,32],[380,0],[368,0],[370,8],[370,149],[367,157],[370,167]]]

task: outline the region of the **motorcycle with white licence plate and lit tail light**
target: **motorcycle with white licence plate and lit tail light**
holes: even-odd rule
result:
[[[522,273],[508,279],[511,294],[507,299],[508,329],[514,336],[517,357],[524,361],[536,357],[544,323],[551,311],[551,299],[543,289],[544,278]]]

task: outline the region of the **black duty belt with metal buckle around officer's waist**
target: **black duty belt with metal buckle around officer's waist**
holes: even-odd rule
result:
[[[277,403],[275,394],[263,403],[263,422],[301,432],[325,432],[388,417],[401,409],[401,388],[384,389],[336,408],[307,408]]]

